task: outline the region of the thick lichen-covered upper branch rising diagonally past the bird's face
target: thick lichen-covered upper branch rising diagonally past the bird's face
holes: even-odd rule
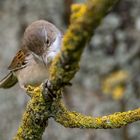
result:
[[[61,53],[50,68],[50,80],[55,88],[60,88],[74,77],[86,42],[118,1],[88,0],[85,4],[72,6],[71,24],[64,36]]]

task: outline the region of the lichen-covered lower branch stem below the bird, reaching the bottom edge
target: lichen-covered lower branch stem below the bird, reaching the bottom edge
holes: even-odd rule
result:
[[[28,87],[32,99],[23,114],[22,123],[14,140],[41,140],[47,126],[50,102],[42,97],[42,87]]]

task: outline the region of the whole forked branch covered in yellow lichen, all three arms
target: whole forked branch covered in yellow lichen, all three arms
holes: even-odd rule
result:
[[[90,40],[105,15],[119,1],[87,0],[85,4],[72,6],[71,24],[64,36],[61,52],[50,67],[51,90],[56,94],[55,99],[44,98],[45,90],[42,90],[42,86],[28,90],[31,100],[15,140],[40,140],[50,117],[65,127],[95,129],[119,128],[140,120],[140,109],[94,118],[70,112],[61,103],[60,89],[69,83],[78,71],[86,42]]]

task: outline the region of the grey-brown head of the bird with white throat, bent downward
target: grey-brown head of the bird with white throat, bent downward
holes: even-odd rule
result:
[[[49,63],[60,51],[62,34],[57,27],[45,20],[38,20],[29,25],[24,33],[22,45]]]

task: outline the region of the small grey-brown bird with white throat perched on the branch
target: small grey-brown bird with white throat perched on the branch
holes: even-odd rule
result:
[[[8,67],[9,73],[0,81],[0,88],[39,86],[49,78],[49,67],[60,52],[62,33],[52,23],[37,20],[24,32],[21,49]]]

